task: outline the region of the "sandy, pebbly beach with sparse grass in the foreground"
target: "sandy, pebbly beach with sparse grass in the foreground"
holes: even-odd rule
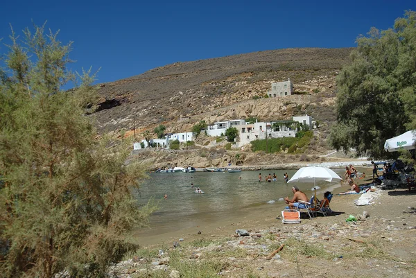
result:
[[[372,205],[357,206],[361,195],[336,195],[347,190],[333,188],[331,216],[303,214],[302,223],[283,224],[281,209],[262,207],[232,222],[153,238],[112,271],[121,277],[415,277],[416,192],[379,190]],[[364,211],[368,218],[346,222]]]

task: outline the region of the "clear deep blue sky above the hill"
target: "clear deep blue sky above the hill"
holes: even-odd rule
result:
[[[356,46],[374,26],[392,27],[416,1],[7,1],[0,37],[8,43],[32,20],[73,41],[73,70],[97,82],[128,78],[173,62],[272,49]],[[5,47],[1,46],[1,52]]]

